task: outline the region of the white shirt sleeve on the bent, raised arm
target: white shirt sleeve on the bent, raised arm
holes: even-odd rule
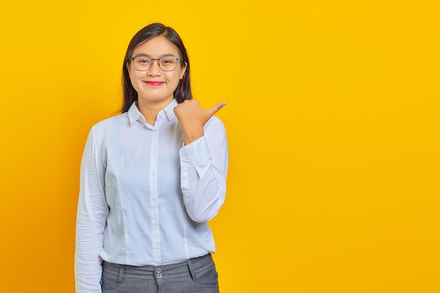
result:
[[[204,133],[179,152],[183,202],[190,218],[198,223],[213,219],[224,203],[228,171],[224,124],[212,117],[205,124]]]

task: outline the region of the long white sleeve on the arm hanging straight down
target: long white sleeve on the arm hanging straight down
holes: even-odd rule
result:
[[[105,167],[89,133],[81,163],[77,209],[75,283],[77,293],[101,293],[103,231],[108,216],[105,200]]]

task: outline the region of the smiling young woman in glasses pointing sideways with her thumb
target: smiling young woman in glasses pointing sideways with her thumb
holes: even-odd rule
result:
[[[124,58],[122,114],[87,138],[77,210],[77,293],[219,292],[207,221],[224,202],[226,103],[192,98],[185,46],[154,23]]]

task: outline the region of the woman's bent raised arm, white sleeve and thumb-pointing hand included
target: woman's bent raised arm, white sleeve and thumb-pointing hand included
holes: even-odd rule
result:
[[[225,199],[228,143],[224,124],[212,117],[224,105],[204,110],[196,100],[186,100],[174,108],[185,135],[179,153],[183,202],[199,223],[214,218]]]

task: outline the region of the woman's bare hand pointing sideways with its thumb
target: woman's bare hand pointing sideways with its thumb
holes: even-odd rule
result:
[[[214,107],[204,109],[198,100],[184,100],[174,108],[174,114],[179,121],[185,136],[185,145],[197,141],[203,134],[203,126],[217,111],[219,111],[225,102],[218,103]]]

